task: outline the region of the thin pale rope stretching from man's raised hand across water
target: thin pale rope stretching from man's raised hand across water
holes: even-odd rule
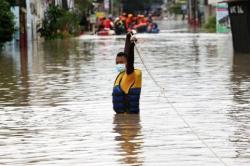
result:
[[[135,43],[135,42],[134,42]],[[191,132],[197,137],[197,139],[203,144],[205,145],[205,147],[218,159],[218,161],[221,162],[221,164],[223,164],[224,166],[228,166],[223,160],[222,158],[210,147],[208,146],[208,144],[201,138],[201,136],[193,129],[193,127],[187,122],[187,120],[182,116],[182,114],[177,110],[177,108],[173,105],[173,103],[170,102],[169,98],[166,96],[166,90],[156,81],[156,79],[154,78],[154,76],[152,75],[152,73],[150,72],[149,68],[147,67],[147,65],[144,62],[143,56],[140,53],[139,49],[137,48],[137,45],[135,43],[135,50],[145,68],[145,70],[147,71],[148,75],[150,76],[150,78],[153,80],[153,82],[155,83],[155,85],[160,89],[161,93],[163,94],[163,98],[165,98],[167,100],[167,103],[171,106],[171,108],[175,111],[175,113],[177,114],[177,116],[184,122],[184,124],[191,130]]]

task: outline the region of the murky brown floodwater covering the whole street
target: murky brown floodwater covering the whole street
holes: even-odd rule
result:
[[[161,33],[137,35],[145,64],[209,147],[227,165],[247,166],[250,56],[234,55],[230,34],[183,25],[160,22]],[[222,165],[137,54],[141,113],[114,113],[115,56],[124,41],[83,35],[34,43],[27,56],[8,46],[0,56],[0,165]]]

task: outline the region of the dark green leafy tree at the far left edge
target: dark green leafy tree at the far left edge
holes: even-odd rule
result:
[[[15,32],[15,22],[9,2],[1,0],[0,10],[0,47],[2,47],[5,42],[12,40]]]

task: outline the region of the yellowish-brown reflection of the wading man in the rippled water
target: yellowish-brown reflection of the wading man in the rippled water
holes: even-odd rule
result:
[[[114,132],[119,134],[115,141],[119,144],[122,164],[142,165],[142,134],[139,115],[116,114],[114,116]]]

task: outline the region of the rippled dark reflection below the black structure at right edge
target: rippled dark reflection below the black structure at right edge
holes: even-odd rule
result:
[[[235,146],[235,158],[250,158],[250,55],[235,54],[232,70],[234,105],[229,112],[235,131],[229,140]]]

